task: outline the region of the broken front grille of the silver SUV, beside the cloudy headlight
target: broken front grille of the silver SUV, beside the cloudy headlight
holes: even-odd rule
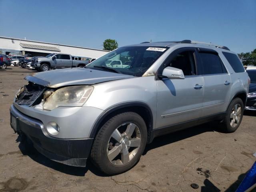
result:
[[[29,83],[21,88],[21,92],[16,95],[16,103],[19,105],[32,105],[44,91],[44,87]]]

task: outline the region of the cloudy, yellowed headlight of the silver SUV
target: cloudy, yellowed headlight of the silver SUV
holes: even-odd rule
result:
[[[50,96],[46,96],[43,105],[45,110],[53,110],[57,107],[78,107],[82,106],[90,97],[93,86],[69,86],[56,90]],[[46,92],[45,94],[49,94]]]

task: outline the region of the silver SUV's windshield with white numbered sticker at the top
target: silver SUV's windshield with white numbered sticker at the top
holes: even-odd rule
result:
[[[113,68],[118,73],[142,76],[148,68],[167,50],[167,47],[121,47],[114,50],[92,63],[86,65],[86,68],[97,70],[106,70]],[[99,67],[103,66],[103,67]]]

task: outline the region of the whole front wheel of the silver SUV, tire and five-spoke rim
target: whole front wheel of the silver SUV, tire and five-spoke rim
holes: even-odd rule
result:
[[[100,128],[91,150],[92,162],[105,174],[120,174],[140,160],[146,141],[142,117],[134,112],[120,113]]]

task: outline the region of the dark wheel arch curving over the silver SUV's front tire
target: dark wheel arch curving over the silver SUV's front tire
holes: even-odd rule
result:
[[[136,112],[143,118],[147,126],[147,132],[148,132],[147,140],[149,141],[150,133],[153,127],[153,114],[150,107],[143,102],[128,102],[128,103],[118,104],[116,106],[112,106],[108,108],[94,123],[92,131],[90,133],[90,138],[95,138],[101,126],[108,119],[122,112]]]

